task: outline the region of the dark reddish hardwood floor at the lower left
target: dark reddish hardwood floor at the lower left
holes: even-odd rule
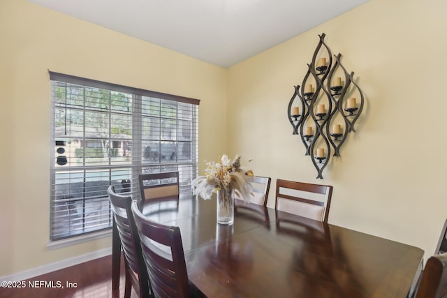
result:
[[[0,288],[1,298],[124,297],[124,261],[119,291],[112,295],[112,256],[91,260],[22,282],[24,288]],[[132,289],[131,298],[137,298]]]

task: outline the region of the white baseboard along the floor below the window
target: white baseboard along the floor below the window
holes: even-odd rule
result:
[[[52,271],[64,269],[73,265],[78,265],[82,262],[87,262],[97,258],[105,257],[112,254],[112,247],[101,249],[101,251],[94,251],[93,253],[86,253],[85,255],[78,255],[73,258],[61,260],[59,262],[50,263],[41,267],[29,269],[22,272],[17,272],[9,276],[0,276],[0,281],[24,281],[25,279],[47,274]]]

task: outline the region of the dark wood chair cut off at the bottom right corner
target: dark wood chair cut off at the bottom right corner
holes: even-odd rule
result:
[[[416,298],[445,297],[447,297],[447,253],[441,253],[427,260]]]

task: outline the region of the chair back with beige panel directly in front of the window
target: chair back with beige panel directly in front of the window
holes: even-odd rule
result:
[[[179,172],[139,174],[141,199],[179,198]]]

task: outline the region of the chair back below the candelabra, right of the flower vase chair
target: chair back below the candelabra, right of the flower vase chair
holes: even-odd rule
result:
[[[332,186],[277,179],[274,209],[328,222]]]

